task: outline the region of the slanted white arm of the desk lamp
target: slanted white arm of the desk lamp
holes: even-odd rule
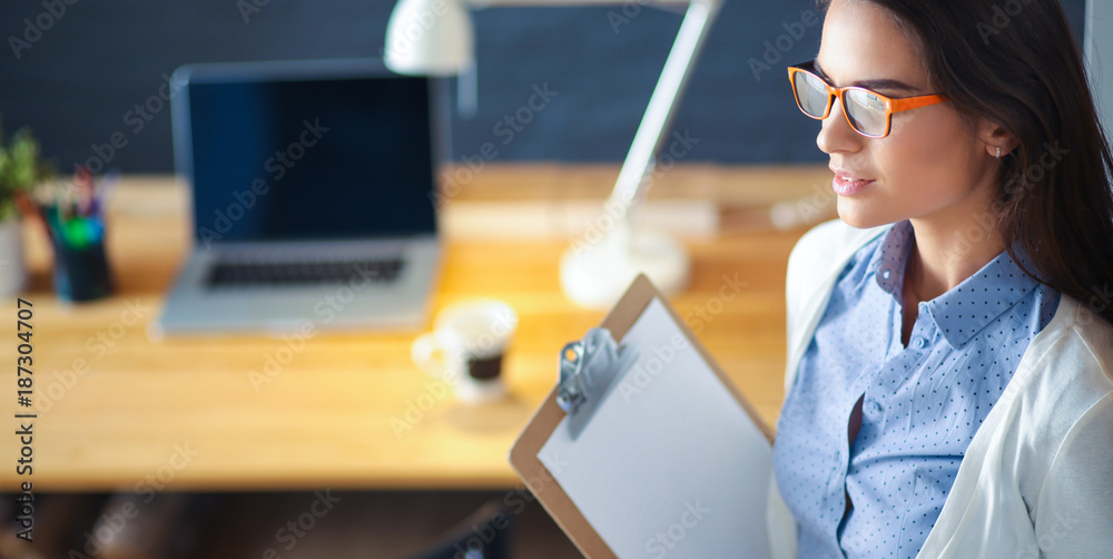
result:
[[[687,89],[707,40],[708,31],[722,6],[722,0],[691,0],[680,23],[677,40],[672,43],[661,77],[649,98],[649,106],[641,117],[633,144],[622,163],[614,189],[605,207],[620,226],[629,227],[630,210],[641,203],[649,190],[657,166],[657,154],[664,147],[680,99]],[[613,209],[612,209],[613,208]]]

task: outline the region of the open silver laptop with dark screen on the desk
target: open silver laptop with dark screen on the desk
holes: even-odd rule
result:
[[[152,337],[412,330],[440,267],[433,81],[378,60],[175,71],[193,243]]]

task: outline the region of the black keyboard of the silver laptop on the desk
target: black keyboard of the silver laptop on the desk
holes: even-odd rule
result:
[[[371,282],[397,280],[402,258],[327,262],[219,262],[210,268],[209,287],[344,284],[364,277]]]

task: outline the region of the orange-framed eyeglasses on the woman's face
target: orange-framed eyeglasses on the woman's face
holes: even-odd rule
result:
[[[947,100],[943,95],[920,95],[894,99],[863,87],[835,87],[815,73],[815,62],[788,67],[788,79],[792,82],[796,106],[805,115],[823,120],[831,112],[831,104],[838,97],[843,102],[843,115],[858,134],[868,138],[884,138],[889,135],[893,114],[918,109]]]

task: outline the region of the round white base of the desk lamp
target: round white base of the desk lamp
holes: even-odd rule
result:
[[[691,261],[673,237],[639,229],[629,247],[613,236],[593,245],[574,244],[560,258],[560,285],[580,306],[605,310],[618,303],[638,274],[646,274],[664,295],[688,286]]]

